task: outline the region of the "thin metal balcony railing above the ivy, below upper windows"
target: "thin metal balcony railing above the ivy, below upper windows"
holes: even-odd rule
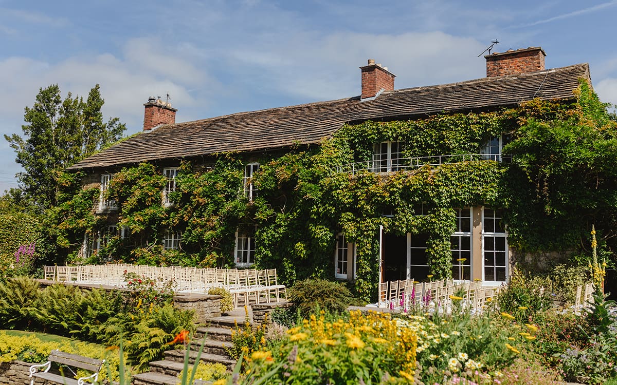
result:
[[[441,166],[442,164],[460,163],[465,161],[502,161],[500,154],[457,154],[457,155],[433,155],[419,156],[417,158],[393,158],[393,159],[374,159],[357,163],[342,164],[336,166],[336,172],[349,172],[354,175],[356,172],[395,172],[410,171],[424,166]]]

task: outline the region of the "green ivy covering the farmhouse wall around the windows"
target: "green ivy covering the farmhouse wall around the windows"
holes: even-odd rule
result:
[[[617,126],[586,82],[581,81],[577,97],[572,103],[532,100],[499,111],[366,121],[343,126],[318,146],[228,153],[205,165],[183,161],[170,206],[163,204],[160,166],[124,168],[108,193],[119,205],[118,225],[130,235],[111,241],[104,253],[130,262],[230,266],[236,230],[254,230],[257,266],[275,267],[283,282],[291,283],[333,278],[336,234],[342,232],[357,248],[353,287],[368,300],[376,295],[380,226],[400,235],[428,233],[431,272],[450,277],[455,208],[505,209],[508,243],[524,253],[585,247],[581,240],[591,223],[611,249]],[[514,155],[511,163],[474,160],[387,174],[336,171],[341,164],[370,160],[373,146],[387,140],[405,142],[408,157],[455,155],[478,153],[487,140],[504,133],[513,137],[504,151]],[[249,201],[243,170],[255,161],[260,169],[253,182],[259,191]],[[80,234],[96,233],[116,220],[92,214],[97,198],[86,189],[62,203],[57,219],[67,250],[78,244]],[[416,213],[420,205],[426,207],[424,215]],[[162,251],[167,230],[182,232],[180,251]]]

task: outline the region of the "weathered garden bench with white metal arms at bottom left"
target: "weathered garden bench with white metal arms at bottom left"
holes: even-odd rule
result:
[[[66,365],[73,376],[77,374],[70,368],[80,368],[93,372],[92,375],[86,377],[80,377],[78,379],[67,378],[67,376],[57,375],[55,373],[49,373],[51,363],[56,362],[62,365]],[[99,379],[99,371],[105,360],[96,360],[89,357],[83,357],[83,355],[70,354],[58,350],[51,351],[48,361],[46,363],[32,365],[30,367],[30,385],[34,385],[37,378],[49,381],[51,383],[65,384],[65,385],[84,385],[89,383],[96,383]],[[43,371],[39,371],[43,370]]]

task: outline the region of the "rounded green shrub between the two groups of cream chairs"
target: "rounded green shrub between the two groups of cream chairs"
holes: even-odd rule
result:
[[[288,295],[289,301],[294,303],[303,317],[317,314],[319,309],[341,313],[352,303],[352,298],[344,284],[321,279],[298,281]]]

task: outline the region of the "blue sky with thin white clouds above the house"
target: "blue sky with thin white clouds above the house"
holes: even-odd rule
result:
[[[169,93],[176,121],[360,94],[366,59],[395,88],[486,75],[478,55],[542,46],[547,68],[590,64],[617,103],[615,1],[0,0],[0,133],[22,134],[39,87],[87,95],[141,130],[143,103]],[[16,187],[0,141],[0,191]]]

